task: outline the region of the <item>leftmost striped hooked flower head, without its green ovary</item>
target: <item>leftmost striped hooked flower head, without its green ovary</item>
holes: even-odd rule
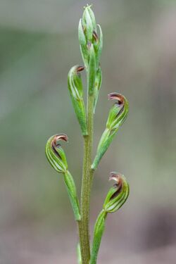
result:
[[[46,143],[45,153],[51,166],[61,173],[65,173],[68,169],[65,153],[59,143],[61,140],[68,142],[66,134],[56,134],[49,138]]]

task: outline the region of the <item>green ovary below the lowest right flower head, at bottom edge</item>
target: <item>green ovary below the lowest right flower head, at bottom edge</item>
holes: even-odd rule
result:
[[[90,264],[96,264],[97,256],[99,253],[99,247],[101,244],[101,238],[103,236],[103,232],[105,229],[106,215],[107,215],[106,211],[101,210],[94,225],[94,238],[92,243]]]

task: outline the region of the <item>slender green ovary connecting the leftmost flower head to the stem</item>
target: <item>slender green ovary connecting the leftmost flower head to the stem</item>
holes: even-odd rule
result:
[[[77,191],[75,187],[75,182],[73,180],[72,175],[70,174],[68,170],[64,173],[64,182],[68,190],[68,196],[70,198],[70,203],[73,208],[75,220],[80,221],[81,220],[80,205],[77,199]]]

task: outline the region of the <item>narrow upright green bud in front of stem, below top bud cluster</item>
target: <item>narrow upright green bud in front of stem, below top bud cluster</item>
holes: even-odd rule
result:
[[[89,46],[89,71],[88,71],[88,84],[89,84],[89,95],[94,94],[94,84],[96,78],[96,55],[94,46]]]

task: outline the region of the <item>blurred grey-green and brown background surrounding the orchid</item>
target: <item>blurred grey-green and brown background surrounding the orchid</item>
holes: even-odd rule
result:
[[[82,64],[77,25],[87,1],[0,0],[0,263],[76,263],[77,227],[44,147],[63,144],[80,193],[82,136],[67,75]],[[110,92],[130,101],[130,114],[94,177],[91,231],[122,172],[130,197],[108,215],[99,262],[176,261],[176,2],[91,1],[103,29],[103,83],[95,115],[94,153]]]

